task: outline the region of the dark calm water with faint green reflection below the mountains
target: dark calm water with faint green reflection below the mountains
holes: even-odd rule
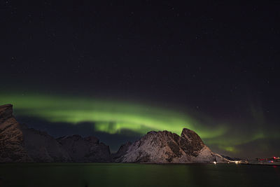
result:
[[[280,186],[261,165],[0,164],[0,186]]]

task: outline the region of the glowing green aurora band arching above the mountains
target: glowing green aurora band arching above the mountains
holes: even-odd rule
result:
[[[109,134],[121,134],[123,130],[141,135],[151,130],[181,134],[186,127],[197,132],[207,145],[232,153],[238,152],[238,145],[265,138],[265,134],[259,131],[237,137],[230,132],[229,124],[216,125],[214,120],[204,117],[203,121],[208,123],[205,124],[186,112],[151,104],[62,95],[0,94],[0,104],[7,103],[14,105],[15,116],[31,116],[50,123],[73,125],[92,122],[96,131]]]

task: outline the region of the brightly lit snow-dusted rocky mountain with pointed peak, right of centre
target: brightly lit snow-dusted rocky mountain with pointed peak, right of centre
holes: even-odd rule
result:
[[[120,147],[115,162],[213,163],[228,162],[213,153],[193,131],[183,129],[181,136],[168,131],[148,132],[133,144]]]

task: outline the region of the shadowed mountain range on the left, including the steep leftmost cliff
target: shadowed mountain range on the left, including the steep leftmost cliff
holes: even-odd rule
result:
[[[96,137],[62,137],[15,120],[13,105],[0,106],[0,162],[109,162],[109,146]]]

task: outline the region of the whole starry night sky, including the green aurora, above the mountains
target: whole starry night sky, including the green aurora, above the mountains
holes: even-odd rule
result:
[[[195,130],[212,151],[280,155],[280,3],[0,1],[0,104],[117,151]]]

